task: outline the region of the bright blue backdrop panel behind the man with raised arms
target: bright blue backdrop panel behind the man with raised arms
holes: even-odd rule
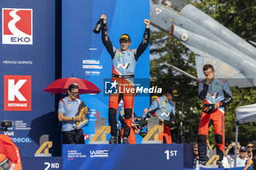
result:
[[[121,34],[129,34],[136,49],[143,40],[144,19],[149,19],[148,0],[76,0],[62,1],[62,77],[79,77],[93,82],[102,90],[99,94],[80,96],[89,107],[89,123],[83,128],[86,143],[94,135],[94,122],[98,117],[108,120],[109,94],[105,79],[111,78],[112,60],[102,44],[102,35],[93,32],[99,17],[107,16],[108,33],[113,46],[120,49]],[[126,67],[126,66],[123,66]],[[136,79],[143,79],[143,88],[149,88],[149,45],[140,56],[135,69]],[[149,94],[135,96],[134,111],[141,116],[143,109],[149,107]],[[117,115],[118,118],[118,115]],[[108,125],[108,122],[107,122]],[[107,136],[109,139],[110,136]],[[137,143],[142,138],[137,137]]]

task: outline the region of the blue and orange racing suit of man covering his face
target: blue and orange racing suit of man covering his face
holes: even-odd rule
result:
[[[233,101],[233,96],[227,80],[214,77],[208,85],[206,80],[199,83],[198,96],[203,99],[203,104],[216,104],[219,102],[219,108],[214,112],[207,114],[202,112],[200,125],[198,129],[198,152],[199,161],[208,161],[206,156],[206,139],[211,125],[214,125],[215,140],[217,142],[217,155],[219,160],[223,159],[223,151],[225,149],[225,115],[224,110],[227,104]]]

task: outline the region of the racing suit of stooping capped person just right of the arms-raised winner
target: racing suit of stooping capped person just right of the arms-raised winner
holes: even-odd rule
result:
[[[175,107],[176,104],[173,101],[167,101],[167,99],[164,96],[162,96],[156,98],[152,102],[151,106],[148,109],[148,112],[146,112],[146,115],[147,117],[150,117],[150,115],[154,115],[162,118],[163,120],[174,122]],[[159,139],[163,143],[164,137],[167,144],[172,143],[172,137],[170,136],[170,128],[167,125],[164,125],[164,131],[161,134],[159,134]]]

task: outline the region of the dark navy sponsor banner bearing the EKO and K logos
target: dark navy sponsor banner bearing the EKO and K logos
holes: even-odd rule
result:
[[[54,96],[42,92],[55,79],[55,1],[0,4],[0,121],[13,121],[1,134],[12,138],[22,157],[34,157],[43,134],[56,144]]]

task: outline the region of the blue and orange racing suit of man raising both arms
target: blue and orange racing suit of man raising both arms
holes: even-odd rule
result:
[[[134,88],[134,74],[135,66],[140,55],[148,47],[150,40],[150,29],[146,28],[143,41],[139,47],[135,50],[118,50],[113,47],[108,36],[108,28],[105,23],[102,25],[102,42],[105,45],[108,53],[112,58],[112,81],[118,82],[121,89]],[[130,128],[132,127],[132,110],[134,104],[135,93],[127,93],[123,91],[120,93],[118,90],[117,94],[110,94],[109,109],[108,109],[108,122],[111,126],[111,136],[116,135],[116,114],[118,110],[118,101],[123,98],[124,101],[124,122],[127,124],[124,126],[124,136],[128,137]]]

